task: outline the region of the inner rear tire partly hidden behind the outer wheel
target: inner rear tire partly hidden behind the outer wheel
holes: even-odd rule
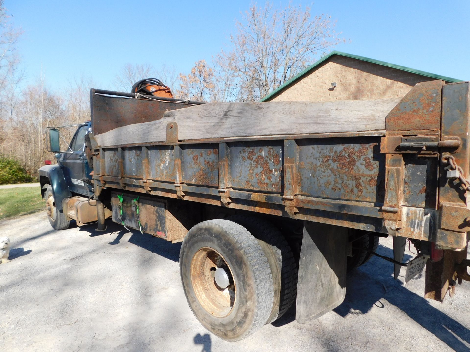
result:
[[[274,301],[269,324],[282,317],[294,303],[297,293],[297,264],[286,239],[275,226],[256,216],[236,214],[227,220],[245,227],[256,237],[271,268],[274,283]]]

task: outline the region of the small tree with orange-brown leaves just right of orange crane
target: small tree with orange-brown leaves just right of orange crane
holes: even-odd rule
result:
[[[192,99],[197,101],[214,100],[214,71],[205,60],[195,62],[191,73],[183,75],[180,73],[180,89],[177,92],[181,99]]]

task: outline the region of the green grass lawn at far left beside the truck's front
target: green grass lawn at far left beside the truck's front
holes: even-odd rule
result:
[[[44,210],[39,187],[16,187],[0,190],[0,220]]]

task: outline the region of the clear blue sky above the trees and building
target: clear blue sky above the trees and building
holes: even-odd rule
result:
[[[196,60],[210,60],[226,47],[235,18],[250,3],[6,0],[5,6],[24,30],[20,53],[28,82],[42,65],[54,89],[82,74],[96,88],[112,89],[126,62],[188,72]],[[312,14],[331,15],[337,31],[351,39],[335,50],[470,80],[469,0],[321,0]]]

